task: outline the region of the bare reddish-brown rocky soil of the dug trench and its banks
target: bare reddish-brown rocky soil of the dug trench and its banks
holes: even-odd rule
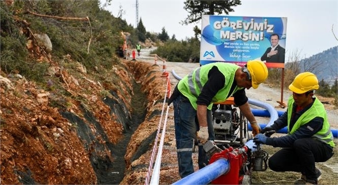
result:
[[[66,62],[49,88],[1,74],[1,184],[118,184],[153,142],[165,89],[156,67],[121,61],[96,78]]]

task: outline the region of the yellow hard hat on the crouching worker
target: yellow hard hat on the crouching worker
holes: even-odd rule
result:
[[[307,91],[316,90],[318,88],[318,79],[316,75],[311,72],[299,73],[289,86],[289,89],[297,94],[303,94]]]

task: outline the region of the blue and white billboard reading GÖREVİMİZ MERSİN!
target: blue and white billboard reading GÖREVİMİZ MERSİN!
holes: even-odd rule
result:
[[[200,64],[262,60],[284,68],[286,29],[286,17],[203,15]]]

